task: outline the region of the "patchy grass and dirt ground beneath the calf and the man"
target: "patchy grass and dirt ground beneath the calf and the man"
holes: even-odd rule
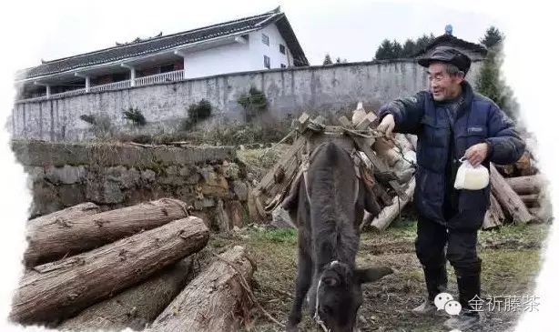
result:
[[[448,331],[442,327],[445,317],[415,317],[410,312],[422,303],[422,269],[415,257],[415,222],[399,220],[382,233],[363,233],[357,258],[358,266],[384,265],[395,272],[363,287],[364,303],[359,311],[361,331]],[[480,232],[479,254],[483,260],[483,297],[527,297],[533,295],[534,278],[540,267],[549,225],[503,226]],[[254,294],[259,303],[279,322],[285,323],[293,297],[297,268],[297,237],[292,229],[248,226],[229,235],[213,236],[207,250],[220,252],[229,246],[244,245],[257,264]],[[449,287],[457,296],[456,280],[450,264]],[[535,307],[537,309],[537,307]],[[486,310],[483,331],[513,330],[522,314]],[[320,331],[303,312],[302,331]],[[254,309],[246,331],[281,331],[261,311]]]

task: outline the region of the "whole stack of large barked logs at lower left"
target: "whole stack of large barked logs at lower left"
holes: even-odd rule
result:
[[[10,320],[59,330],[230,330],[248,312],[255,267],[234,246],[195,276],[193,255],[208,238],[204,221],[172,198],[105,212],[84,203],[29,220]]]

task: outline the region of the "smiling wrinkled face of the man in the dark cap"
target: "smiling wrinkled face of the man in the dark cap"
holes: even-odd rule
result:
[[[432,63],[427,70],[429,87],[436,101],[453,99],[461,93],[462,74],[449,75],[442,63]]]

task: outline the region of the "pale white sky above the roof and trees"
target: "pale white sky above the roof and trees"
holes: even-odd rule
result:
[[[55,2],[56,3],[56,2]],[[457,11],[442,5],[409,2],[280,1],[258,2],[203,1],[192,8],[188,1],[158,0],[138,5],[137,2],[99,0],[94,4],[69,2],[66,15],[56,20],[41,15],[38,8],[27,20],[33,35],[35,52],[20,59],[24,67],[39,65],[41,59],[56,58],[95,51],[129,42],[139,37],[170,35],[248,15],[259,15],[276,8],[284,12],[297,35],[310,65],[320,65],[326,53],[349,62],[369,61],[385,38],[403,43],[422,34],[442,35],[451,24],[453,35],[479,42],[484,31],[495,25],[506,34],[502,22],[487,15]],[[143,3],[142,3],[143,4]],[[70,15],[69,13],[74,13]]]

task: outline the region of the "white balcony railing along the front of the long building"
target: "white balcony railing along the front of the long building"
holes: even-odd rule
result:
[[[134,86],[149,86],[158,83],[165,83],[165,82],[177,82],[184,80],[185,71],[184,70],[176,70],[173,72],[161,73],[156,75],[148,75],[143,77],[137,77],[134,79]],[[76,90],[69,90],[65,92],[61,92],[59,94],[52,94],[50,96],[36,96],[33,98],[26,98],[26,99],[19,99],[17,103],[23,102],[35,102],[35,101],[42,101],[49,98],[56,98],[56,97],[64,97],[64,96],[76,96],[76,95],[83,95],[88,92],[103,92],[103,91],[111,91],[111,90],[118,90],[124,89],[127,87],[132,86],[132,80],[126,81],[119,81],[114,83],[109,83],[106,85],[100,86],[91,86],[89,91],[85,87],[79,88]]]

